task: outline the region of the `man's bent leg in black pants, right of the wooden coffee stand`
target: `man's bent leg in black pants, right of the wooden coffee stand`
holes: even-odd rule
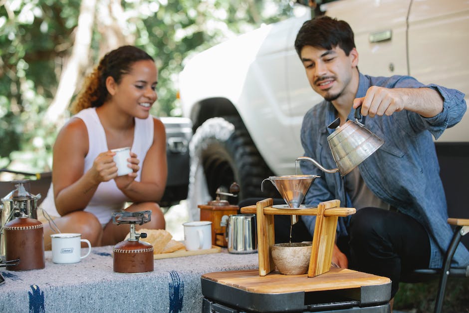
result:
[[[363,208],[352,215],[348,232],[349,236],[337,239],[337,246],[347,256],[349,268],[390,278],[393,298],[401,277],[429,266],[427,231],[408,215]]]

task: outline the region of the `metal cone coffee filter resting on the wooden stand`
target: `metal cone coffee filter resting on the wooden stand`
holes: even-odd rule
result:
[[[270,176],[268,179],[290,208],[299,208],[316,175]]]

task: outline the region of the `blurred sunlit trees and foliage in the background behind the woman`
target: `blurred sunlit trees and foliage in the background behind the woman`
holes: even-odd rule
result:
[[[289,0],[0,0],[0,167],[50,170],[68,106],[107,51],[134,44],[152,55],[152,114],[179,116],[186,58],[290,12]]]

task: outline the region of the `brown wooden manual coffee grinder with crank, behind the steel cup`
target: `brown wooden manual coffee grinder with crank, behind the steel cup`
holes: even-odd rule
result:
[[[239,207],[231,205],[227,200],[221,200],[220,196],[237,197],[239,193],[239,185],[234,182],[230,185],[230,192],[222,192],[220,188],[215,192],[217,198],[209,201],[207,204],[201,204],[197,207],[200,209],[200,220],[212,222],[212,245],[219,247],[228,247],[225,236],[227,221],[222,221],[230,215],[238,214]]]

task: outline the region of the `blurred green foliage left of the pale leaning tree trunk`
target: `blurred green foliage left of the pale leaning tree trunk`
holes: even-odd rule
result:
[[[0,157],[8,163],[27,164],[22,169],[43,170],[48,168],[56,130],[38,125],[58,84],[56,60],[69,53],[80,1],[4,2],[0,7]],[[18,151],[32,155],[26,158]]]

